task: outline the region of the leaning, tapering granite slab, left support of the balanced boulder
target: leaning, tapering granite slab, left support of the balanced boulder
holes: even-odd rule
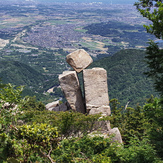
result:
[[[76,72],[64,71],[63,74],[59,75],[59,81],[71,108],[75,111],[85,113],[84,100]]]

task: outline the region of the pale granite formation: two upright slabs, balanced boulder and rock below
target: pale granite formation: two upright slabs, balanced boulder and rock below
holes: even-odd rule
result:
[[[59,75],[59,81],[70,107],[74,111],[84,114],[111,115],[106,70],[103,68],[86,69],[93,60],[83,49],[67,55],[66,61],[74,71],[64,71]],[[84,97],[78,79],[78,73],[80,72],[83,72]],[[118,128],[111,129],[108,121],[106,126],[108,133],[115,134],[116,140],[122,143]]]

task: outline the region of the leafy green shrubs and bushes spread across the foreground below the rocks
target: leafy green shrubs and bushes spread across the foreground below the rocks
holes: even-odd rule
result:
[[[161,108],[157,98],[135,109],[120,108],[112,99],[112,116],[99,119],[100,114],[44,110],[33,98],[21,98],[21,92],[22,87],[11,84],[0,89],[0,162],[162,162],[157,155],[162,152],[155,121]],[[97,122],[106,120],[120,129],[123,144],[102,136]]]

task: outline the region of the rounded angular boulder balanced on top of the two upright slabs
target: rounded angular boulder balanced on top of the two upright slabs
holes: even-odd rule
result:
[[[93,62],[91,56],[84,49],[78,49],[67,55],[66,61],[77,72],[81,72]]]

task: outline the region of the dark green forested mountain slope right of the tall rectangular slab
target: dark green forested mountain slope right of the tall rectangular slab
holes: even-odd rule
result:
[[[143,74],[147,70],[144,57],[143,50],[121,50],[91,65],[107,70],[110,99],[117,98],[121,104],[129,102],[132,106],[156,95],[152,81]]]

